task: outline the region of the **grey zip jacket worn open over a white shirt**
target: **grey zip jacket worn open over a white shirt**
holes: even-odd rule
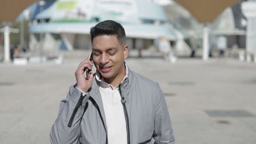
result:
[[[128,68],[129,69],[129,68]],[[94,79],[88,95],[69,88],[60,103],[59,115],[50,132],[51,143],[108,143],[107,125],[98,83]],[[166,101],[158,83],[129,69],[119,85],[127,143],[174,143]],[[109,143],[111,144],[111,143]]]

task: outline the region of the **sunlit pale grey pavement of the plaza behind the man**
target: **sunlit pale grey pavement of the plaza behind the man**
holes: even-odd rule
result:
[[[25,66],[0,63],[0,143],[50,143],[60,100],[75,83],[83,57]],[[256,64],[233,58],[160,57],[126,60],[158,82],[165,94],[176,143],[256,143]]]

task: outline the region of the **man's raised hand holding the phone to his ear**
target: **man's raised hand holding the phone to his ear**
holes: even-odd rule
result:
[[[84,76],[85,69],[91,69],[92,65],[94,65],[90,60],[90,56],[86,58],[83,62],[81,62],[75,71],[75,79],[77,79],[77,87],[84,92],[87,92],[89,88],[91,88],[92,80],[94,75],[92,71],[89,73],[87,79]]]

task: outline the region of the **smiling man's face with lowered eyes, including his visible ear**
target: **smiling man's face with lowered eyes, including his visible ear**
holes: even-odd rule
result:
[[[92,41],[94,65],[104,79],[123,79],[124,59],[127,58],[128,46],[119,43],[114,35],[98,35]],[[124,73],[123,73],[124,72]]]

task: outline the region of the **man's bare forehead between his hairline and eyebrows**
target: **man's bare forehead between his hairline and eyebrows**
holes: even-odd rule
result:
[[[98,35],[92,40],[93,49],[109,49],[112,47],[121,47],[115,35]]]

